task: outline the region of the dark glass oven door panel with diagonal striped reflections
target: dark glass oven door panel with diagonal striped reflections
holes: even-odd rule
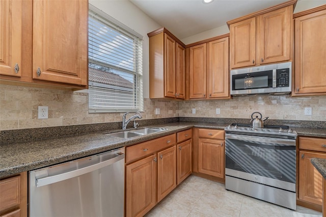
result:
[[[226,168],[295,183],[295,146],[227,139]]]

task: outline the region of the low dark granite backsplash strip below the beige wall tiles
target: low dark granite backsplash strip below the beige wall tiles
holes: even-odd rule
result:
[[[239,118],[197,118],[197,117],[177,117],[177,118],[160,118],[160,119],[146,119],[137,120],[140,127],[167,124],[174,122],[194,122],[194,123],[216,123],[217,125],[228,125],[231,123],[249,124],[250,119]],[[127,128],[132,128],[132,121],[129,122]],[[325,129],[325,121],[300,121],[300,120],[266,120],[266,125],[287,125],[290,127],[302,128],[318,128]],[[96,124],[81,124],[68,125],[57,127],[42,127],[30,129],[14,129],[0,131],[0,144],[11,144],[19,142],[36,141],[50,138],[68,137],[70,135],[80,135],[92,132],[118,130],[122,128],[122,122],[108,122]]]

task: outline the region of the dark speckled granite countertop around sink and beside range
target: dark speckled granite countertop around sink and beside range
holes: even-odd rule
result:
[[[216,122],[174,122],[151,125],[151,127],[167,126],[171,128],[166,131],[129,139],[121,139],[110,135],[105,135],[105,132],[119,131],[111,130],[28,142],[11,144],[2,143],[0,145],[0,178],[14,175],[23,171],[30,171],[59,164],[68,160],[90,156],[115,148],[138,144],[192,127],[224,129],[226,126],[228,126],[228,124]],[[293,129],[296,130],[298,135],[326,138],[326,129]]]

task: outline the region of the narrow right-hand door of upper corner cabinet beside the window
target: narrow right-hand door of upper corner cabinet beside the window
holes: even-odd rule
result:
[[[176,97],[185,98],[185,49],[176,43]]]

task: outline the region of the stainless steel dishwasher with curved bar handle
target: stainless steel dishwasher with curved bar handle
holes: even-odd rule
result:
[[[30,217],[124,216],[124,148],[30,171]]]

